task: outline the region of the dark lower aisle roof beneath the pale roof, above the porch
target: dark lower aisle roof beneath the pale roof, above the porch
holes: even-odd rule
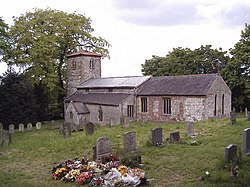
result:
[[[123,100],[131,96],[126,93],[80,93],[76,91],[65,99],[65,102],[83,102],[85,104],[102,104],[118,106]]]

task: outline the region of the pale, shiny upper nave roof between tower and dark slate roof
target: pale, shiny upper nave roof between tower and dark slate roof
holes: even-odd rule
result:
[[[93,78],[77,86],[81,88],[136,88],[147,81],[150,76],[131,76],[131,77],[108,77]]]

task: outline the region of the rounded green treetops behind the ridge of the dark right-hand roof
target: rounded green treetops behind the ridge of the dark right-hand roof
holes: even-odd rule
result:
[[[189,48],[173,48],[166,57],[153,56],[142,64],[144,75],[168,76],[217,73],[225,67],[229,57],[220,48],[201,46],[194,51]]]

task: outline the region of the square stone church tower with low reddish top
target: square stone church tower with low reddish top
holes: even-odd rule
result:
[[[67,57],[67,96],[76,91],[76,87],[90,79],[101,78],[101,55],[90,51],[78,51]]]

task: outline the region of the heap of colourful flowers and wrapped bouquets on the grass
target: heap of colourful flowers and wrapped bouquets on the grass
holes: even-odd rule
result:
[[[85,158],[66,160],[53,167],[52,177],[56,180],[90,186],[135,187],[148,184],[142,169],[122,165],[115,157],[107,163],[89,161]]]

